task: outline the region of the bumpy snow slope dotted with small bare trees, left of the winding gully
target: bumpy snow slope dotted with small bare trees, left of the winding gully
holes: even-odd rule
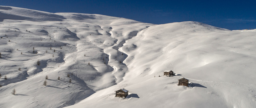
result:
[[[6,108],[74,105],[116,85],[128,72],[123,63],[127,55],[118,49],[136,31],[153,25],[134,25],[129,23],[134,20],[104,15],[54,14],[6,6],[1,6],[0,14],[0,94],[5,97],[0,107]],[[127,24],[118,23],[120,19]],[[113,36],[115,29],[121,30]],[[11,95],[14,88],[17,93]],[[16,102],[10,105],[10,101]]]

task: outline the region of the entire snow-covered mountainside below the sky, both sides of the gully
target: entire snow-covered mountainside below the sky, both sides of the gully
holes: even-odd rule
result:
[[[256,106],[253,30],[0,6],[0,37],[1,108]]]

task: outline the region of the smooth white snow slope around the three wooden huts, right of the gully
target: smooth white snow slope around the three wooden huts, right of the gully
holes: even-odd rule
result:
[[[122,82],[69,107],[253,108],[255,34],[198,22],[151,26],[120,49],[129,69]],[[170,68],[180,75],[158,77]],[[192,87],[177,86],[183,77]],[[129,90],[128,98],[114,97],[119,88]]]

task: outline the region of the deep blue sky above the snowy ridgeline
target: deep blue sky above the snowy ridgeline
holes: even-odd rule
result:
[[[0,5],[154,24],[197,21],[230,30],[256,28],[256,0],[0,0]]]

